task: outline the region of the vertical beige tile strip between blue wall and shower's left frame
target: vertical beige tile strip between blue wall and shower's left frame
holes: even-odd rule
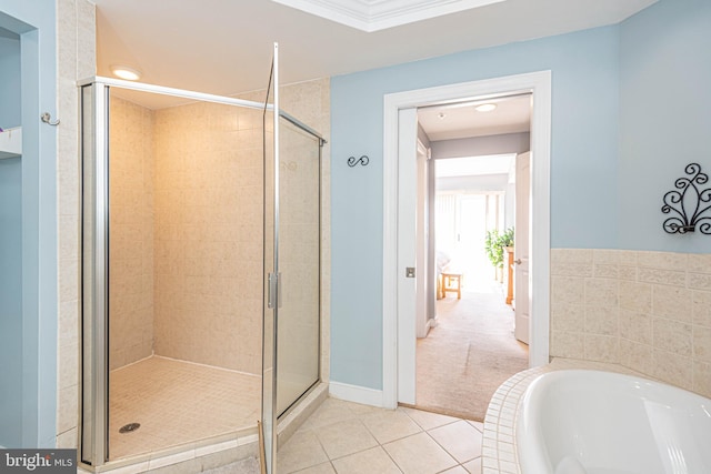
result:
[[[79,407],[79,90],[96,74],[96,16],[86,0],[57,2],[58,353],[57,447],[77,447]]]

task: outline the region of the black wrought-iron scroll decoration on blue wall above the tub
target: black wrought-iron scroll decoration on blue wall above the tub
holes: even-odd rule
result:
[[[702,234],[711,234],[711,188],[701,189],[709,175],[701,172],[701,165],[690,163],[684,169],[690,178],[679,178],[674,186],[679,191],[664,194],[662,212],[671,214],[663,228],[670,234],[694,232],[697,225]],[[704,215],[704,213],[707,213]]]

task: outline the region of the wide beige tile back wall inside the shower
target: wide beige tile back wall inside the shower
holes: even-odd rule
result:
[[[261,128],[230,105],[156,112],[159,355],[261,372]]]

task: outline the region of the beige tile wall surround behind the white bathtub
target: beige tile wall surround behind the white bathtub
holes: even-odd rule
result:
[[[550,352],[711,396],[711,255],[551,250]]]

